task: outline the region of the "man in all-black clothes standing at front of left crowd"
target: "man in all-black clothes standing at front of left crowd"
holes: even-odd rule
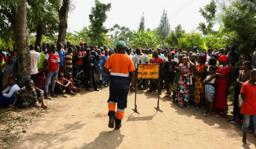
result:
[[[95,76],[94,76],[95,65],[96,65],[95,57],[91,55],[91,49],[87,48],[86,55],[83,58],[83,71],[85,73],[85,87],[86,87],[86,90],[88,91],[90,91],[89,80],[91,77],[92,77],[92,86],[94,90],[99,91],[95,81]]]

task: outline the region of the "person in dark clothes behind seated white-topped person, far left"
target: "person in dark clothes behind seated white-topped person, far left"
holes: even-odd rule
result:
[[[15,69],[17,68],[17,63],[18,61],[14,62],[14,57],[13,56],[8,56],[7,57],[7,63],[4,63],[2,65],[2,74],[3,80],[2,80],[2,89],[6,89],[8,87],[8,78],[12,76],[15,73]]]

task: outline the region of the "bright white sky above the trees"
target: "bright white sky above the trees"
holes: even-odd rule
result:
[[[131,31],[138,30],[142,12],[144,12],[145,29],[153,30],[157,28],[165,9],[172,30],[181,24],[182,29],[190,32],[196,30],[199,23],[206,23],[199,12],[199,8],[210,4],[211,0],[100,0],[100,2],[111,3],[111,9],[107,12],[108,18],[104,23],[106,28],[113,28],[115,24],[118,24],[120,27],[125,26]],[[69,14],[68,31],[79,31],[83,27],[89,26],[91,24],[89,14],[94,6],[93,0],[75,0],[75,10]],[[215,24],[213,30],[218,30],[219,26],[219,24]]]

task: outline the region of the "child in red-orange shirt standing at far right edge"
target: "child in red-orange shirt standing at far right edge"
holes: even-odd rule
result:
[[[254,125],[254,134],[256,134],[256,69],[251,71],[251,79],[245,82],[242,85],[241,89],[241,97],[243,100],[243,104],[241,106],[241,114],[244,116],[244,124],[243,124],[243,139],[242,142],[246,145],[250,145],[248,140],[246,139],[246,134],[248,133],[250,126],[250,118],[253,121]],[[256,144],[255,144],[256,146]]]

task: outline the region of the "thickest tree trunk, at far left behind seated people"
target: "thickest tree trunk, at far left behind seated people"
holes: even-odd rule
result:
[[[17,12],[14,13],[15,18],[15,34],[17,43],[17,60],[18,60],[18,81],[19,87],[25,86],[25,80],[21,76],[30,76],[31,60],[28,44],[27,32],[27,5],[26,0],[23,0],[17,7]]]

